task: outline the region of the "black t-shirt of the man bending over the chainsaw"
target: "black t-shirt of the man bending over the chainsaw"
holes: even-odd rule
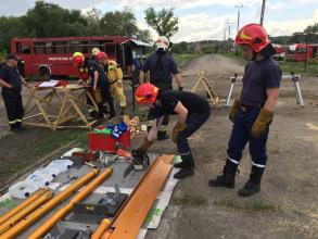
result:
[[[188,110],[188,114],[202,114],[209,111],[208,102],[195,93],[167,90],[160,96],[161,112],[158,116],[175,114],[174,109],[179,101]]]

